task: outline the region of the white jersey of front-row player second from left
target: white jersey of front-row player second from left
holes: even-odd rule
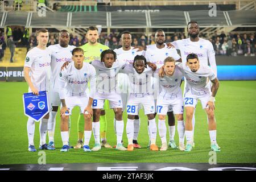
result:
[[[96,92],[98,93],[115,93],[118,92],[117,74],[126,63],[124,61],[116,60],[111,68],[105,67],[101,61],[92,61],[93,67],[96,69],[97,81]]]

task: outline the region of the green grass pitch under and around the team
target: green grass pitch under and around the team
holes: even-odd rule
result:
[[[23,113],[22,94],[27,92],[26,82],[0,82],[0,164],[36,164],[38,151],[28,152],[27,117]],[[216,97],[217,142],[221,152],[217,154],[217,163],[256,163],[256,81],[221,81]],[[106,110],[108,119],[107,139],[112,146],[115,144],[113,128],[113,111]],[[77,141],[78,107],[71,117],[70,142]],[[46,151],[46,163],[208,163],[210,158],[210,139],[205,111],[201,104],[196,109],[195,148],[189,152],[179,150],[150,151],[148,144],[147,119],[140,111],[141,130],[138,142],[141,149],[133,152],[117,151],[102,148],[97,152],[70,150],[60,152],[60,117],[57,115],[55,129],[55,151]],[[124,114],[124,121],[127,115]],[[158,119],[156,118],[156,122]],[[167,140],[168,140],[167,131]],[[48,136],[47,136],[48,140]],[[123,140],[127,146],[126,130]],[[178,143],[177,130],[175,134]],[[35,146],[39,147],[39,123],[35,128]],[[92,135],[90,147],[93,147]],[[160,138],[156,144],[160,146]]]

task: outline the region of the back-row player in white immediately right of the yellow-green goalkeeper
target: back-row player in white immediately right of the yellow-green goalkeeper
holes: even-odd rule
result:
[[[117,53],[117,60],[125,61],[126,64],[133,64],[134,57],[137,55],[144,55],[144,51],[140,49],[134,49],[131,47],[131,33],[129,31],[123,31],[121,34],[122,39],[122,47],[119,49],[114,49],[115,53]],[[123,102],[123,111],[127,106],[127,98],[129,92],[129,78],[126,74],[119,73],[118,74],[118,86],[121,92],[122,102]],[[133,144],[134,148],[141,148],[137,139],[139,134],[139,127],[141,121],[139,119],[139,115],[135,115],[134,119],[134,135],[133,135]],[[115,129],[115,118],[114,118],[114,129]]]

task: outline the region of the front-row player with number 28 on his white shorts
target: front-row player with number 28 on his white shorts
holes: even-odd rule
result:
[[[144,56],[135,56],[133,65],[126,65],[123,73],[129,75],[131,92],[127,101],[127,124],[126,133],[128,138],[128,151],[133,151],[134,118],[139,114],[139,105],[143,105],[144,114],[148,118],[148,127],[150,134],[150,150],[158,151],[156,146],[156,122],[155,122],[155,102],[154,91],[151,88],[152,69],[147,68],[146,58]]]

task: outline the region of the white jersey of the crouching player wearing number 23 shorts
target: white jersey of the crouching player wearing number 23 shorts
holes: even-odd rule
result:
[[[192,72],[191,69],[183,63],[176,63],[176,67],[180,69],[187,80],[185,88],[186,93],[191,92],[194,95],[203,95],[211,92],[208,82],[209,80],[214,80],[216,75],[208,65],[200,64],[196,72]]]

